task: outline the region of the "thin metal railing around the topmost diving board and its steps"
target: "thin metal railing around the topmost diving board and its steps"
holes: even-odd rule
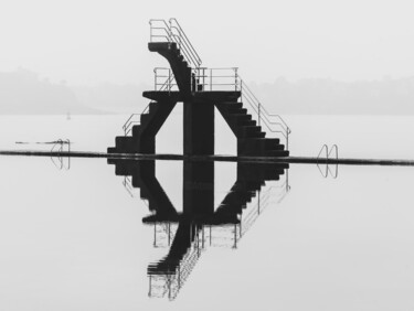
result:
[[[172,18],[168,23],[166,20],[152,19],[149,24],[150,42],[177,43],[184,60],[194,67],[200,67],[202,61],[177,19]]]

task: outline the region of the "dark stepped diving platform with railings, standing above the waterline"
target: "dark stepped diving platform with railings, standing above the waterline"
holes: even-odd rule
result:
[[[290,129],[286,122],[267,112],[243,83],[237,68],[202,67],[199,54],[176,19],[150,21],[148,49],[164,57],[170,67],[155,69],[155,90],[144,92],[150,104],[142,114],[131,115],[124,125],[125,135],[116,138],[108,153],[155,154],[156,136],[180,103],[185,156],[214,154],[215,108],[237,139],[237,156],[289,156]],[[244,101],[252,111],[247,111]],[[280,138],[268,137],[265,127]]]

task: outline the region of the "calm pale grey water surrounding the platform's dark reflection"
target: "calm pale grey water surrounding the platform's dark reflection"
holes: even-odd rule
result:
[[[68,138],[72,150],[105,151],[124,120],[1,117],[0,149],[50,150],[34,142]],[[412,117],[286,120],[293,156],[317,156],[323,143],[337,143],[340,157],[414,159]],[[159,152],[182,150],[178,122],[179,114],[161,129]],[[235,140],[217,124],[216,152],[234,153]],[[242,228],[212,225],[210,233],[205,224],[193,233],[178,286],[177,276],[148,277],[169,254],[177,224],[144,224],[151,213],[142,190],[115,175],[105,159],[72,159],[70,170],[62,160],[61,169],[56,159],[1,157],[0,310],[414,308],[414,168],[341,165],[333,179],[316,165],[291,164],[252,197]],[[157,161],[156,173],[142,178],[156,178],[179,213],[192,207],[183,193],[194,191],[201,205],[198,195],[212,193],[197,178],[187,180],[184,167]],[[214,163],[213,170],[216,208],[237,165]],[[245,168],[247,175],[252,170]]]

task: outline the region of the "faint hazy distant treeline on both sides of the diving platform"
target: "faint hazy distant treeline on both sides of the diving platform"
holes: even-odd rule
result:
[[[414,115],[414,77],[370,82],[308,78],[248,83],[270,112],[282,115]],[[149,84],[68,86],[25,69],[0,73],[0,114],[140,112]]]

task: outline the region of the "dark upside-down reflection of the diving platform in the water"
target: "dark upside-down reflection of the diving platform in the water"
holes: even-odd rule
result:
[[[155,161],[108,160],[116,174],[139,187],[151,215],[142,222],[153,226],[153,246],[168,254],[148,266],[150,297],[174,299],[202,253],[210,246],[237,247],[270,202],[288,191],[288,164],[237,163],[237,179],[222,203],[214,206],[214,162],[183,165],[183,208],[178,213],[156,178]],[[280,176],[284,176],[280,179]],[[128,181],[127,180],[127,181]],[[274,187],[264,189],[265,182]]]

